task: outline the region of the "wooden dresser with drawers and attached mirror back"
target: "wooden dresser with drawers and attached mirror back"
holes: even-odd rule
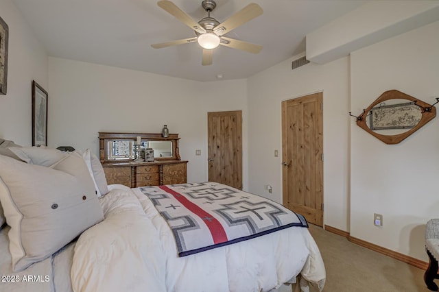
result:
[[[134,154],[128,148],[128,156],[112,159],[112,143],[123,141],[124,146],[130,147],[137,137],[142,143],[157,145],[157,142],[167,143],[167,157],[156,157],[152,162],[134,162]],[[187,182],[187,160],[180,160],[178,150],[178,134],[169,134],[163,138],[161,134],[142,133],[110,133],[99,132],[99,156],[104,167],[108,184],[124,184],[130,188],[138,186],[158,186],[163,184],[183,184]]]

